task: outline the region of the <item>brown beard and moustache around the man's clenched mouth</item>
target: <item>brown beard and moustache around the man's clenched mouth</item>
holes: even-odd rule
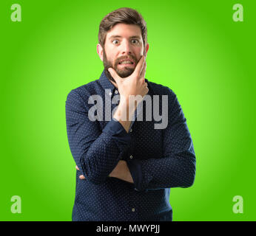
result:
[[[145,55],[145,50],[144,50],[144,55]],[[115,80],[113,79],[113,77],[111,76],[110,72],[108,71],[108,69],[111,67],[112,69],[115,69],[115,72],[121,77],[121,78],[125,78],[128,77],[129,75],[131,75],[135,68],[130,68],[125,66],[124,69],[118,69],[118,63],[120,62],[120,60],[124,60],[124,59],[132,59],[135,62],[135,68],[137,66],[138,60],[137,58],[135,58],[135,56],[133,55],[129,55],[129,56],[123,56],[120,57],[118,59],[116,59],[115,61],[110,61],[107,60],[107,55],[105,53],[105,49],[103,49],[103,64],[104,64],[104,70],[105,70],[105,74],[107,76],[107,78],[109,80],[112,80],[113,82],[115,82]]]

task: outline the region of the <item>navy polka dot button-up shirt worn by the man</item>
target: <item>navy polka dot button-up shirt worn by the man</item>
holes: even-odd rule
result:
[[[167,110],[166,128],[155,128],[161,122],[142,102],[142,114],[152,114],[152,120],[146,115],[137,119],[136,111],[127,133],[107,113],[118,105],[109,101],[120,95],[104,71],[99,80],[67,95],[68,142],[80,170],[76,172],[73,221],[172,221],[170,188],[194,183],[195,152],[181,105],[168,87],[149,80],[146,83],[152,101],[159,95],[158,114]],[[94,94],[103,102],[103,112],[96,112],[103,119],[95,121],[89,117],[90,108],[95,106],[89,102]],[[168,95],[167,107],[162,107],[166,104],[162,95]],[[120,160],[127,162],[134,183],[109,176]]]

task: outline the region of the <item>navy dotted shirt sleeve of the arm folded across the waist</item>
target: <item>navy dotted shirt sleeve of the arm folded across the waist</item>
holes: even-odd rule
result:
[[[169,90],[168,125],[164,132],[163,153],[158,159],[131,159],[127,166],[135,190],[191,187],[195,181],[195,151],[181,105]]]

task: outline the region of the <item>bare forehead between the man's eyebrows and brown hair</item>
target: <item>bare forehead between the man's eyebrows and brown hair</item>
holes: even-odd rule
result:
[[[141,36],[141,28],[136,24],[115,24],[112,29],[107,32],[106,38],[111,38],[113,35],[120,35],[123,38],[130,38],[133,36]]]

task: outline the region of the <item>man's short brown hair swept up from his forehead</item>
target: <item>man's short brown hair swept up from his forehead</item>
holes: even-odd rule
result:
[[[101,44],[103,48],[107,32],[118,23],[138,25],[138,27],[141,28],[144,46],[146,45],[146,21],[144,21],[144,18],[137,10],[129,7],[122,7],[107,14],[101,21],[100,28],[98,30],[98,43]]]

